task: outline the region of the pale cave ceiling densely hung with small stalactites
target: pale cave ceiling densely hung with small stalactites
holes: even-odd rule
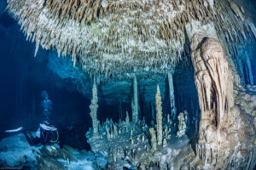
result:
[[[234,0],[7,0],[28,40],[79,60],[84,71],[119,75],[138,68],[166,73],[186,59],[184,26],[213,23],[224,41],[240,42],[255,27]],[[251,30],[249,30],[251,28]],[[249,32],[249,35],[246,32]],[[78,59],[79,58],[79,59]],[[155,65],[158,69],[150,69]],[[149,68],[149,69],[148,69]]]

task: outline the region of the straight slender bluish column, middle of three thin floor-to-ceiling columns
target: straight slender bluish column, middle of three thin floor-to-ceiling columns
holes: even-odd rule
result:
[[[133,78],[133,100],[131,102],[132,122],[138,121],[137,78]]]

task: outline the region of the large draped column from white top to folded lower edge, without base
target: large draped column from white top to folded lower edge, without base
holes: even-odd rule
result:
[[[201,109],[200,132],[212,122],[219,129],[224,112],[230,111],[234,105],[233,80],[224,48],[218,42],[213,23],[202,26],[200,22],[192,21],[186,26],[186,31]]]

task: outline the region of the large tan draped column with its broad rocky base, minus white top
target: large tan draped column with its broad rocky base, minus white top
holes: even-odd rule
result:
[[[250,135],[255,132],[255,127],[250,126],[248,120],[255,117],[244,114],[241,107],[234,105],[234,95],[239,91],[237,87],[233,88],[234,71],[230,69],[231,64],[221,44],[206,34],[195,33],[191,49],[201,108],[200,139],[196,144],[197,161],[194,162],[201,161],[201,166],[197,167],[202,169],[253,169],[255,163],[251,160],[256,140],[255,135]],[[237,86],[237,82],[234,84]],[[242,99],[236,102],[241,103],[239,100]]]

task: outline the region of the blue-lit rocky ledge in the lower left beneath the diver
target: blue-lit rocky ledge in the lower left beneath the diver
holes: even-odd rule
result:
[[[53,149],[55,148],[55,149]],[[23,133],[0,141],[2,169],[106,169],[107,157],[59,144],[31,146]]]

